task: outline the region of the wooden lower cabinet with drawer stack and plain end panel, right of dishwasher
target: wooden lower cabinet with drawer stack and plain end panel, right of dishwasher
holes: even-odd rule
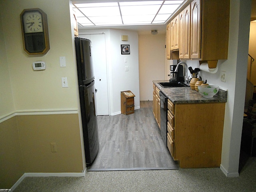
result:
[[[180,168],[219,167],[225,103],[168,100],[167,147]]]

